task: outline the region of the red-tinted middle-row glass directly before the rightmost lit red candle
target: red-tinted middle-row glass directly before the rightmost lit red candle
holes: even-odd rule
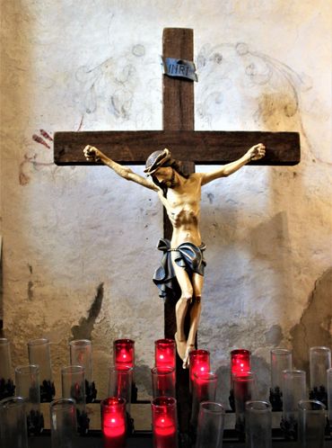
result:
[[[246,401],[251,401],[255,398],[254,374],[252,372],[234,373],[233,384],[236,415],[235,428],[240,434],[243,434]]]

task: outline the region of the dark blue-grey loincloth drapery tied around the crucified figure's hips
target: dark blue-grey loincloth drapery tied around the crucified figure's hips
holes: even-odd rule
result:
[[[172,249],[170,248],[170,240],[161,238],[157,248],[162,250],[163,256],[161,265],[154,272],[153,282],[158,286],[159,296],[162,299],[166,298],[168,289],[171,291],[179,290],[179,283],[170,256],[172,251],[177,252],[175,263],[185,268],[189,277],[191,277],[192,273],[204,275],[206,262],[203,251],[206,248],[205,244],[202,243],[200,246],[195,246],[192,243],[182,243]]]

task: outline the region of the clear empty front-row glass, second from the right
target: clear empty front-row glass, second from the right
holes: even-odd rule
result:
[[[246,402],[246,448],[272,447],[272,407],[268,401]]]

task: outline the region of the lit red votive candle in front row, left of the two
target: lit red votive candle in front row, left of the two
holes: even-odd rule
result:
[[[101,431],[105,448],[126,447],[126,400],[117,397],[103,399]]]

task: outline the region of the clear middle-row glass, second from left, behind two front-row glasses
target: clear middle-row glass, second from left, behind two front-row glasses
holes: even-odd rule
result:
[[[61,369],[62,398],[74,399],[78,432],[86,434],[89,418],[85,410],[85,376],[82,365],[68,365]]]

